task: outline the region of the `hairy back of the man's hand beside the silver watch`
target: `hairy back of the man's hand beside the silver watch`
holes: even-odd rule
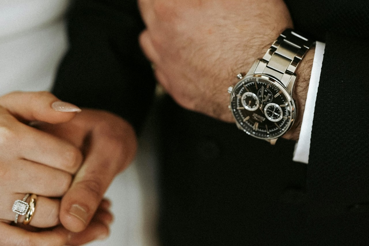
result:
[[[234,122],[228,86],[292,20],[282,0],[138,0],[140,43],[155,75],[183,107]]]

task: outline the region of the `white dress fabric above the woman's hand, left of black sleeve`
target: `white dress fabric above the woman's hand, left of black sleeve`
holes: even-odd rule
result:
[[[67,49],[68,0],[0,1],[0,95],[50,90]]]

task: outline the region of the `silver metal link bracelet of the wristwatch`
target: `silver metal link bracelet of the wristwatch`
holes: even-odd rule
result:
[[[273,42],[256,66],[255,74],[269,74],[279,81],[284,87],[290,82],[300,61],[315,42],[303,37],[292,29],[286,29]],[[294,81],[292,81],[294,82]],[[289,86],[293,86],[289,85]]]

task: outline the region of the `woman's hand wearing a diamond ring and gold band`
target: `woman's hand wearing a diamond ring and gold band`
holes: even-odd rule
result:
[[[0,98],[1,221],[14,221],[14,201],[31,193],[38,201],[30,225],[46,228],[59,224],[58,198],[68,190],[72,174],[82,163],[82,153],[68,141],[28,123],[67,122],[77,111],[76,106],[60,102],[48,92],[14,92]]]

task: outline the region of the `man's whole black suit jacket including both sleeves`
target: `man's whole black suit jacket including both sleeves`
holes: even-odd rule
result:
[[[356,245],[369,242],[369,5],[286,0],[295,28],[326,42],[309,164],[275,146],[159,103],[158,231],[163,245]],[[135,1],[79,0],[54,92],[128,119],[136,129],[154,80],[139,52]]]

